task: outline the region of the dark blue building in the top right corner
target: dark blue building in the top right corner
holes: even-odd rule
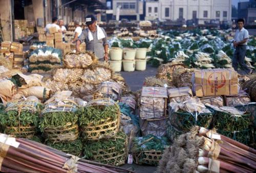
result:
[[[238,18],[245,19],[248,25],[256,24],[256,1],[250,0],[249,2],[238,3]]]

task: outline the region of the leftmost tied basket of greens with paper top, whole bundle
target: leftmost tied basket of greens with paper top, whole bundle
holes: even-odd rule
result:
[[[1,126],[5,134],[32,138],[36,132],[40,104],[37,100],[15,100],[2,106],[0,113]]]

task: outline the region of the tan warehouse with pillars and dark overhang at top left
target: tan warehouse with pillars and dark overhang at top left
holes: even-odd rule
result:
[[[97,10],[105,9],[105,4],[105,0],[0,0],[4,39],[15,39],[15,20],[26,20],[26,26],[36,28],[45,27],[51,23],[52,17],[57,16],[68,24],[72,20],[84,21],[86,15],[96,14]],[[96,16],[99,21],[105,17],[100,13]]]

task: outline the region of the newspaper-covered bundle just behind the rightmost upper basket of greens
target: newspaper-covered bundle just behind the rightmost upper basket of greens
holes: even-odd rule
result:
[[[122,94],[122,89],[116,82],[105,81],[98,85],[96,92],[94,92],[94,99],[110,98],[118,101]]]

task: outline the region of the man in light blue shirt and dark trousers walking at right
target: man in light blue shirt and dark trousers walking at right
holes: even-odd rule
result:
[[[232,59],[232,67],[238,71],[238,63],[247,74],[251,74],[252,70],[245,63],[245,53],[247,40],[249,38],[248,31],[244,29],[244,19],[238,19],[238,30],[234,35],[233,45],[236,48]]]

